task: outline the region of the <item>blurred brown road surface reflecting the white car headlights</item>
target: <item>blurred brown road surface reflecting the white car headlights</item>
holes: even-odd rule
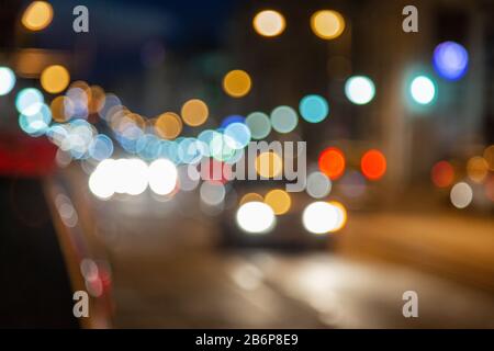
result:
[[[494,328],[489,290],[339,251],[220,249],[217,220],[201,214],[195,196],[102,202],[76,186],[78,177],[68,183],[80,226],[112,269],[114,327]],[[366,230],[358,218],[349,236]],[[405,291],[418,294],[418,318],[402,315]]]

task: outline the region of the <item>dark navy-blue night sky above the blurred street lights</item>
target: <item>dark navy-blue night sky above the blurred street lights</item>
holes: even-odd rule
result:
[[[148,42],[160,43],[168,54],[192,56],[223,46],[232,13],[244,0],[53,0],[54,21],[29,46],[68,52],[87,50],[91,76],[136,71],[143,68],[141,52]],[[90,32],[76,34],[72,9],[89,9]],[[21,9],[22,10],[22,7]],[[32,33],[30,35],[33,35]],[[89,77],[90,78],[90,77]]]

